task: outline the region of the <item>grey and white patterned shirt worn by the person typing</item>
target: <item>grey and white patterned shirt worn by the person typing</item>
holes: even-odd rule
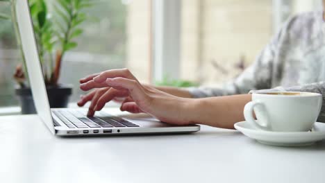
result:
[[[289,19],[256,61],[222,88],[190,88],[195,98],[285,89],[323,95],[318,121],[325,122],[325,23],[322,11]]]

